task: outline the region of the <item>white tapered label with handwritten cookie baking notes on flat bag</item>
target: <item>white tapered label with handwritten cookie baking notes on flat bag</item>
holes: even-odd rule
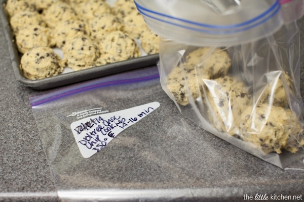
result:
[[[89,158],[96,154],[120,132],[137,123],[159,106],[160,103],[153,102],[73,122],[71,130],[82,156]]]

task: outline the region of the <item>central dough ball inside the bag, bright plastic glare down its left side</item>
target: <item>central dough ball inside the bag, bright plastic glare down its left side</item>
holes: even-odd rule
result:
[[[220,132],[242,138],[239,125],[241,114],[252,105],[245,84],[231,76],[204,79],[205,102],[210,123]]]

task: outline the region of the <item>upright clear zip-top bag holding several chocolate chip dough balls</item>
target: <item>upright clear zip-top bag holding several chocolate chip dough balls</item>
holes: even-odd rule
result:
[[[162,37],[161,85],[183,115],[264,161],[304,169],[299,30],[279,1],[135,4]]]

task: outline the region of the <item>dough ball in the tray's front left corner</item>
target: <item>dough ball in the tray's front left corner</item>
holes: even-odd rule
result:
[[[35,47],[21,57],[20,69],[25,78],[35,80],[55,76],[63,71],[58,55],[50,47]]]

